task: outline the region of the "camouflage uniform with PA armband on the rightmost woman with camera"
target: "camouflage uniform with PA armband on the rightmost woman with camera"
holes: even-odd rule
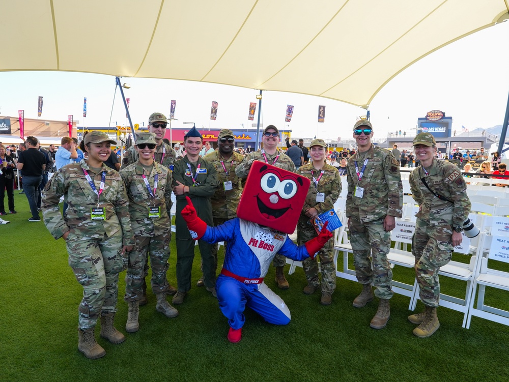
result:
[[[422,178],[426,178],[435,193],[453,203],[433,195]],[[467,185],[455,164],[436,159],[433,159],[429,175],[419,166],[410,174],[409,183],[412,196],[420,207],[412,240],[419,296],[423,304],[438,307],[438,271],[449,262],[453,253],[453,227],[462,227],[470,213]]]

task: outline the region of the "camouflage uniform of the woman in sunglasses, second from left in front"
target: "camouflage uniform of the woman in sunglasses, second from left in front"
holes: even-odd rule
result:
[[[151,197],[142,175],[146,175],[151,192],[154,192],[155,176],[158,177],[155,197]],[[144,266],[147,251],[152,267],[152,291],[166,292],[169,288],[166,280],[168,269],[169,241],[172,238],[172,173],[168,168],[154,162],[152,169],[144,167],[139,160],[123,168],[120,176],[129,198],[129,215],[136,244],[129,253],[126,274],[125,301],[139,301],[142,298],[142,285],[145,277]],[[158,218],[149,218],[149,208],[159,207]]]

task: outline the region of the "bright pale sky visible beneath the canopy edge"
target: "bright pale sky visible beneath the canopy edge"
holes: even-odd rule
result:
[[[453,117],[453,130],[473,130],[501,125],[509,94],[509,22],[501,23],[450,44],[415,63],[393,78],[370,105],[375,134],[415,128],[418,117],[441,110]],[[86,54],[86,53],[79,53]],[[169,114],[177,101],[174,127],[195,122],[198,128],[250,127],[249,102],[259,91],[201,82],[123,78],[131,84],[133,123],[147,123],[159,111]],[[0,115],[37,118],[38,96],[44,97],[41,120],[67,120],[74,115],[79,126],[126,125],[120,94],[114,102],[115,78],[71,72],[0,72]],[[83,97],[87,118],[83,119]],[[210,120],[210,106],[217,101],[217,120]],[[286,105],[294,105],[291,123],[285,123]],[[318,105],[326,106],[325,123],[317,122]],[[258,112],[258,109],[257,109]],[[293,136],[351,137],[351,127],[365,111],[329,99],[292,93],[264,92],[261,122],[292,129]],[[168,116],[168,115],[167,115]]]

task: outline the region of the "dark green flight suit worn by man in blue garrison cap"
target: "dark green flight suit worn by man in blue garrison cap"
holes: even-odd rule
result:
[[[191,170],[187,165],[190,165]],[[199,174],[196,174],[196,167],[200,165]],[[192,177],[196,177],[196,186],[193,186]],[[212,226],[212,205],[211,196],[217,189],[217,173],[214,166],[199,158],[198,161],[190,163],[187,155],[175,162],[173,171],[173,186],[177,186],[177,181],[189,187],[189,198],[191,198],[198,217],[205,221],[207,225]],[[191,289],[191,268],[194,258],[194,240],[191,238],[187,224],[182,218],[181,211],[187,205],[186,195],[177,195],[177,215],[175,220],[177,238],[177,283],[181,292],[187,292]],[[205,286],[213,287],[215,285],[214,258],[212,257],[211,244],[203,240],[198,241],[203,261],[203,273],[205,276]]]

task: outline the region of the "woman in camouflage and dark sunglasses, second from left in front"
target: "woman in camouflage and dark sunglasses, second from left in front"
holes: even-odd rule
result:
[[[177,309],[166,301],[169,241],[172,238],[172,172],[154,161],[155,134],[136,133],[138,160],[120,170],[129,198],[129,215],[136,244],[129,253],[124,300],[129,306],[128,333],[137,332],[138,302],[143,296],[144,266],[147,252],[152,267],[152,291],[157,297],[156,310],[166,317],[178,316]]]

